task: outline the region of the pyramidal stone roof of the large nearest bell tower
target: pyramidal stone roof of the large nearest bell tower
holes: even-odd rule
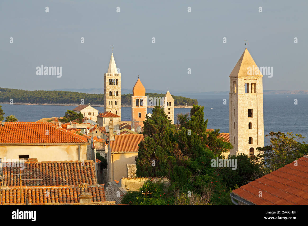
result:
[[[245,49],[229,77],[263,77],[263,75],[248,50]]]

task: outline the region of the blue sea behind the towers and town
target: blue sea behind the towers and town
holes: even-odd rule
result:
[[[194,98],[190,96],[190,98]],[[220,129],[221,133],[229,133],[229,96],[214,94],[195,96],[198,104],[204,106],[204,119],[208,119],[207,128]],[[226,99],[226,100],[224,100]],[[297,104],[294,104],[297,99]],[[224,102],[226,104],[224,104]],[[15,115],[19,121],[37,121],[41,118],[62,117],[67,109],[76,106],[62,105],[10,105],[1,104],[5,113]],[[103,107],[95,107],[104,111]],[[308,96],[307,95],[263,95],[264,135],[270,131],[293,132],[306,137],[302,141],[308,143]],[[152,113],[152,108],[147,109]],[[174,122],[177,114],[189,113],[190,108],[175,108]],[[122,107],[122,120],[131,120],[130,107]],[[264,137],[264,145],[268,144],[268,137]]]

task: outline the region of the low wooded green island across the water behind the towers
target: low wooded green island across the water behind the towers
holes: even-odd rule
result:
[[[146,93],[149,97],[163,98],[165,93]],[[187,97],[174,96],[174,107],[184,108],[197,105],[196,99]],[[8,89],[0,87],[0,103],[8,104],[10,99],[13,99],[14,104],[29,104],[29,105],[79,105],[81,99],[84,99],[84,104],[103,106],[104,94],[79,93],[71,91],[45,91],[35,90],[28,91],[22,89]],[[130,107],[132,94],[121,95],[121,106]],[[151,106],[148,106],[151,107]]]

